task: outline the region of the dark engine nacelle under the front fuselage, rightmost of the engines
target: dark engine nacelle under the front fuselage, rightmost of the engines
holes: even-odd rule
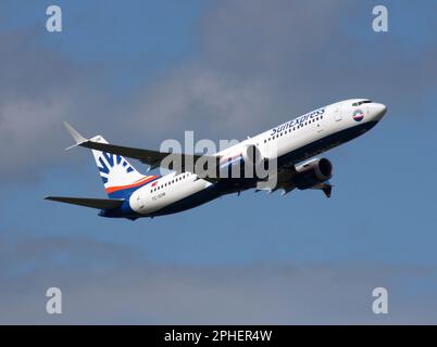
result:
[[[316,158],[297,166],[296,171],[292,178],[296,188],[310,189],[333,177],[333,164],[326,158]]]

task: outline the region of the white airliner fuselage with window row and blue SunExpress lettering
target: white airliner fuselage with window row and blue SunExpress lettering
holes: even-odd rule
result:
[[[259,149],[263,158],[277,158],[279,166],[284,163],[296,164],[367,131],[383,117],[385,111],[384,105],[364,99],[338,102],[248,138],[216,155],[230,157],[252,144]],[[170,206],[175,206],[176,211],[187,209],[220,196],[217,192],[208,196],[212,185],[195,174],[172,172],[133,192],[129,197],[130,208],[142,216],[160,215]],[[205,196],[195,202],[195,197],[202,192]]]

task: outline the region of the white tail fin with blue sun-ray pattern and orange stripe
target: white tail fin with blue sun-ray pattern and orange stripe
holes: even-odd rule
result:
[[[90,139],[93,142],[108,143],[101,136]],[[155,176],[139,174],[123,156],[91,150],[97,168],[102,178],[109,197],[123,197],[138,187],[150,182]]]

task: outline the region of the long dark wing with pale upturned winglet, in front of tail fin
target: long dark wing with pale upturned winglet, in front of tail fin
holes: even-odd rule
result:
[[[142,149],[134,149],[122,145],[115,145],[110,143],[101,143],[97,141],[92,141],[90,139],[84,138],[79,134],[68,123],[64,121],[65,128],[72,134],[73,139],[76,141],[76,145],[80,145],[83,147],[87,147],[90,150],[97,150],[101,152],[117,154],[122,156],[126,156],[129,158],[135,158],[150,166],[149,169],[155,169],[157,167],[164,167],[168,169],[174,169],[173,167],[168,167],[167,165],[163,165],[163,160],[166,163],[180,163],[179,167],[182,171],[189,165],[192,165],[191,170],[193,169],[193,165],[196,165],[197,160],[202,158],[202,160],[208,160],[208,163],[214,163],[216,165],[218,157],[215,156],[207,156],[201,154],[183,154],[183,153],[171,153],[171,152],[159,152],[153,150],[142,150]],[[72,147],[73,147],[72,146]],[[70,149],[70,147],[68,147]],[[165,163],[165,164],[166,164]]]

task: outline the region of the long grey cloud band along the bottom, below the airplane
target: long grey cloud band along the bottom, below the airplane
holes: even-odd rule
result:
[[[1,264],[8,261],[15,269],[0,272],[0,322],[7,324],[437,321],[436,294],[420,290],[421,284],[435,285],[434,268],[372,264],[192,267],[155,265],[133,247],[80,236],[16,240],[14,244],[11,252],[0,253]],[[412,283],[414,292],[409,291]],[[63,291],[62,316],[45,312],[45,292],[50,286]],[[371,310],[376,286],[389,291],[388,316]]]

